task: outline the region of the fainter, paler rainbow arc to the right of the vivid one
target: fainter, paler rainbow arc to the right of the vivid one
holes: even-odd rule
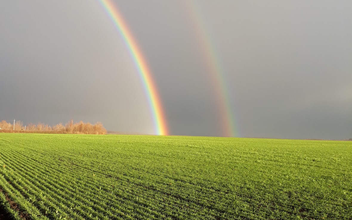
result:
[[[222,133],[224,136],[237,136],[235,128],[234,114],[230,104],[230,91],[225,81],[225,74],[220,65],[219,56],[215,52],[215,47],[210,39],[209,31],[205,26],[204,19],[193,0],[184,0],[184,6],[191,16],[193,26],[197,32],[197,39],[203,49],[204,58],[212,76],[213,88],[217,96],[219,114],[221,120]]]

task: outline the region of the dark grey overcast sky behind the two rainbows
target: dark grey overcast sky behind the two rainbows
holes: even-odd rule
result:
[[[186,1],[114,1],[170,134],[224,135],[203,26],[237,136],[352,138],[352,1]],[[1,1],[0,30],[0,120],[153,134],[137,69],[97,0]]]

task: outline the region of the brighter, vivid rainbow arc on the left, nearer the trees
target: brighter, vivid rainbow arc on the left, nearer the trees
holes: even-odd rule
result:
[[[134,64],[138,69],[138,74],[143,82],[144,90],[148,99],[149,108],[152,113],[155,133],[159,135],[167,135],[168,128],[164,116],[163,107],[159,98],[156,86],[152,79],[147,63],[143,58],[142,52],[134,40],[126,23],[122,19],[118,8],[111,2],[111,0],[98,0],[109,17],[117,27],[122,39],[125,41],[128,51],[130,52]]]

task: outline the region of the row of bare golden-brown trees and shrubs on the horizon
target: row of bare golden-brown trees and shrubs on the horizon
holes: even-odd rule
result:
[[[46,133],[46,134],[106,134],[106,129],[97,122],[95,125],[80,121],[74,123],[73,120],[65,125],[62,123],[49,126],[38,122],[24,126],[22,121],[16,121],[15,125],[3,120],[0,122],[0,133]]]

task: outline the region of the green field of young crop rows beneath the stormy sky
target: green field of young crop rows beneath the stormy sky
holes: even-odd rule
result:
[[[17,219],[352,219],[349,141],[0,134],[0,165]]]

